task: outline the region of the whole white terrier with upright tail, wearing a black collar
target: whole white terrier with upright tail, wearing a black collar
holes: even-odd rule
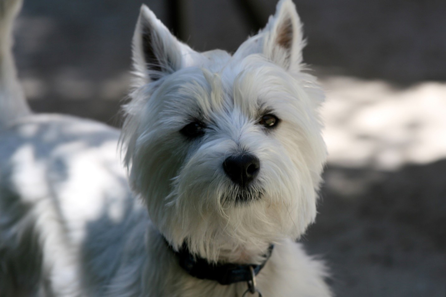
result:
[[[295,242],[326,148],[291,0],[233,55],[195,52],[142,6],[121,133],[132,191],[119,131],[29,111],[20,2],[0,0],[2,297],[331,296]]]

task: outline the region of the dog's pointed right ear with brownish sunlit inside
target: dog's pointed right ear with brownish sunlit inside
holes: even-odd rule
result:
[[[263,53],[285,69],[299,69],[302,62],[301,21],[292,0],[280,0],[276,14],[270,16],[268,24],[257,35],[245,41],[235,54],[246,56]]]

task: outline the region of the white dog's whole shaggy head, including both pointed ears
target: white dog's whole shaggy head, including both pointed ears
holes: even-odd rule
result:
[[[252,261],[299,237],[316,215],[326,149],[291,0],[232,56],[193,51],[145,6],[133,46],[125,160],[165,238],[210,260]]]

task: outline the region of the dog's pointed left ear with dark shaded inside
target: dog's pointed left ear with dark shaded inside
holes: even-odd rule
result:
[[[193,50],[179,42],[147,6],[141,6],[133,35],[137,85],[156,81],[182,68],[183,59],[191,52]]]

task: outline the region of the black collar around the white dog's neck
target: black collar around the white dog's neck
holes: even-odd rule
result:
[[[172,247],[169,245],[169,248]],[[261,264],[234,264],[216,263],[211,264],[206,259],[194,256],[189,252],[186,244],[177,252],[172,249],[178,257],[180,266],[193,277],[218,281],[221,285],[230,285],[239,281],[252,281],[252,270],[257,275],[268,261],[273,252],[274,245],[271,244],[268,252],[264,255],[265,260]]]

